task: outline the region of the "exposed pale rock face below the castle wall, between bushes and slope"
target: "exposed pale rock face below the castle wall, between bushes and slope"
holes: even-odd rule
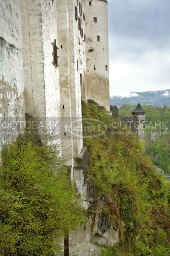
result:
[[[73,178],[82,195],[85,222],[71,233],[70,250],[78,256],[90,256],[100,252],[97,244],[113,246],[122,236],[122,224],[114,223],[109,214],[101,210],[107,202],[111,214],[118,217],[119,206],[112,197],[96,198],[94,181],[89,177],[88,170],[74,169]]]

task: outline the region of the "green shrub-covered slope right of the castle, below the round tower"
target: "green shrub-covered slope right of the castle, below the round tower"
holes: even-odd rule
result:
[[[95,104],[83,103],[82,113],[96,197],[112,198],[101,211],[120,229],[119,243],[103,248],[101,255],[170,255],[170,184],[154,172],[138,137],[114,129],[113,119]],[[101,121],[106,131],[100,135],[89,118]]]

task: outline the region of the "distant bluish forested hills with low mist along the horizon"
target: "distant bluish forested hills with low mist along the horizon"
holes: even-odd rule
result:
[[[146,105],[164,106],[170,105],[170,89],[147,91],[147,92],[131,92],[129,97],[111,96],[111,105],[121,106],[123,104],[136,105],[137,102]]]

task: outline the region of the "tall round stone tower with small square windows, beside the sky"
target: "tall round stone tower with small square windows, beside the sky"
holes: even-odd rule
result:
[[[87,98],[110,111],[108,1],[85,0]]]

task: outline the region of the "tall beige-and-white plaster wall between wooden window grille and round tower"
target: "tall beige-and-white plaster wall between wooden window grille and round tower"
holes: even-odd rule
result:
[[[78,137],[65,130],[65,122],[70,125],[82,126],[81,119],[81,84],[80,73],[85,73],[85,44],[80,39],[78,21],[75,20],[77,0],[57,1],[58,52],[60,77],[60,111],[62,123],[62,146],[68,165],[73,165],[73,157],[82,150],[82,131]],[[79,6],[77,6],[79,10]],[[83,25],[85,26],[85,24]],[[84,52],[84,55],[83,55]],[[78,61],[78,68],[77,68]],[[83,80],[84,84],[85,81]],[[85,96],[84,96],[85,97]]]

